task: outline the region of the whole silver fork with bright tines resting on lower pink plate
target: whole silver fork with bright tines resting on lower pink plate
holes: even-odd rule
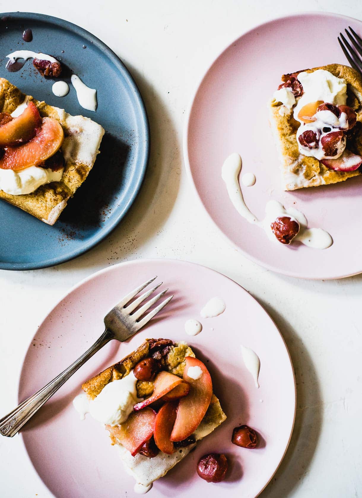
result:
[[[152,292],[154,292],[162,282],[158,283],[152,289],[147,290],[133,302],[130,301],[136,297],[147,285],[149,285],[156,276],[147,280],[139,287],[129,292],[123,299],[105,316],[104,323],[106,330],[101,337],[84,353],[78,360],[76,360],[70,367],[60,373],[57,377],[53,378],[44,387],[39,389],[35,394],[25,399],[14,410],[0,419],[0,433],[3,436],[12,437],[18,430],[31,418],[38,409],[61,387],[69,377],[73,375],[83,364],[86,363],[97,351],[105,346],[111,339],[117,339],[120,342],[126,341],[133,334],[138,332],[139,329],[144,327],[166,304],[171,301],[173,295],[161,302],[156,308],[151,310],[143,318],[142,315],[155,304],[160,297],[162,297],[168,289],[163,290],[156,296],[152,297],[149,301],[143,304],[140,308],[136,309]],[[129,304],[128,304],[129,303]],[[136,310],[136,311],[134,311]],[[133,314],[132,311],[134,311]],[[139,320],[140,319],[140,320]]]

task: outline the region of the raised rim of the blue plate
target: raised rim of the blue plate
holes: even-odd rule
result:
[[[95,45],[104,53],[104,57],[109,58],[112,61],[112,63],[116,66],[116,68],[119,70],[119,72],[122,73],[122,76],[124,77],[129,88],[133,92],[134,99],[138,108],[137,109],[138,115],[140,117],[140,121],[143,124],[142,128],[140,129],[141,138],[139,140],[139,148],[141,151],[140,154],[141,157],[138,160],[138,168],[137,168],[138,174],[135,176],[135,178],[133,178],[128,200],[125,202],[125,204],[122,205],[122,207],[119,206],[115,210],[119,212],[112,222],[108,222],[105,228],[102,228],[95,237],[92,237],[92,239],[89,242],[85,243],[81,248],[68,252],[67,255],[65,256],[46,259],[42,262],[36,262],[36,263],[32,262],[7,263],[0,261],[0,269],[2,270],[35,270],[40,268],[48,268],[49,266],[55,266],[57,264],[64,263],[66,261],[70,261],[71,259],[74,259],[75,257],[84,254],[85,252],[92,249],[100,242],[102,242],[117,227],[117,225],[120,223],[124,215],[127,213],[129,208],[133,204],[133,201],[136,198],[141,188],[149,158],[150,133],[149,133],[148,117],[141,93],[136,83],[134,82],[132,76],[130,75],[128,69],[125,67],[121,59],[118,57],[118,55],[116,55],[116,53],[108,45],[106,45],[95,35],[87,31],[86,29],[81,28],[77,24],[73,24],[72,22],[66,21],[65,19],[61,19],[59,17],[54,17],[47,14],[39,14],[36,12],[2,12],[0,13],[0,17],[11,17],[12,19],[17,19],[19,21],[24,19],[24,21],[35,20],[35,21],[51,23],[56,26],[59,26],[60,28],[71,29],[72,31],[74,31],[74,33],[88,40],[89,43]]]

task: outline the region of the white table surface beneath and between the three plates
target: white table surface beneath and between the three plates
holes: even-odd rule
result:
[[[3,12],[47,13],[101,38],[135,78],[151,127],[144,185],[110,237],[53,268],[0,271],[1,415],[16,405],[22,359],[37,326],[74,284],[124,260],[195,261],[228,275],[255,296],[280,328],[292,357],[297,383],[294,433],[282,465],[261,496],[362,496],[362,276],[299,280],[248,261],[228,245],[203,211],[182,159],[184,116],[196,84],[215,56],[243,31],[294,8],[362,19],[360,0],[293,3],[17,0],[9,5],[0,1]],[[0,462],[1,497],[53,496],[28,463],[19,436],[0,437]]]

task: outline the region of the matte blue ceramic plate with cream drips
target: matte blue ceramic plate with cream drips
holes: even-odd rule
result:
[[[31,42],[22,39],[26,28],[32,30]],[[43,78],[31,60],[20,71],[7,72],[5,56],[21,49],[60,60],[61,79],[69,83],[69,94],[56,97],[52,93],[54,80]],[[72,73],[97,89],[97,112],[79,105],[70,84]],[[23,93],[69,114],[87,116],[106,130],[92,171],[53,227],[0,201],[0,268],[28,270],[59,264],[98,244],[131,206],[148,159],[144,104],[129,72],[109,47],[79,26],[48,15],[0,14],[0,76]]]

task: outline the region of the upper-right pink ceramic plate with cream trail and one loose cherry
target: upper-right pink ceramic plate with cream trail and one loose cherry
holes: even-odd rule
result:
[[[268,124],[267,101],[283,73],[331,63],[348,64],[337,36],[362,22],[329,13],[283,17],[258,26],[232,43],[213,63],[191,105],[184,134],[184,155],[207,212],[241,252],[266,268],[303,278],[339,278],[362,271],[362,178],[338,185],[284,192],[279,161]],[[270,242],[232,205],[221,178],[226,157],[239,152],[241,174],[256,176],[242,187],[250,210],[263,218],[275,199],[302,211],[310,227],[327,230],[334,244],[325,250]]]

